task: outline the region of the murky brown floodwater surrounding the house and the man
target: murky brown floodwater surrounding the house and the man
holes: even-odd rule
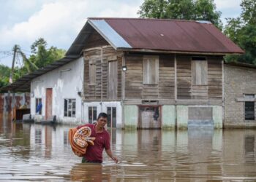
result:
[[[81,164],[67,125],[0,119],[0,181],[256,181],[256,130],[112,130],[115,164]]]

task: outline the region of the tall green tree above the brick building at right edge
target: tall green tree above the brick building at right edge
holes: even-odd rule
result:
[[[244,51],[244,55],[228,55],[226,62],[242,62],[256,65],[256,1],[243,0],[241,15],[227,18],[225,34]]]

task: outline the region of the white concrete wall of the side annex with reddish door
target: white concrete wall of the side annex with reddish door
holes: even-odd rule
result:
[[[78,92],[83,92],[83,58],[78,58],[64,66],[49,71],[42,76],[38,76],[31,82],[31,114],[38,118],[35,113],[36,98],[42,98],[42,116],[45,116],[46,89],[53,89],[53,110],[58,122],[80,123],[82,114],[82,99]],[[64,71],[70,69],[70,71]],[[75,117],[64,116],[64,98],[75,98]],[[40,117],[40,116],[39,116]]]

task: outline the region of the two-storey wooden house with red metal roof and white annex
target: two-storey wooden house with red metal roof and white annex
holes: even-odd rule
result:
[[[103,111],[108,127],[222,128],[223,56],[243,52],[206,21],[89,18],[66,57],[31,79],[31,114],[41,99],[41,115],[64,123]]]

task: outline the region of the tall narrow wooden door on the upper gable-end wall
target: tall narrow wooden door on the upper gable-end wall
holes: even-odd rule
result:
[[[108,62],[108,99],[117,98],[117,60]]]

